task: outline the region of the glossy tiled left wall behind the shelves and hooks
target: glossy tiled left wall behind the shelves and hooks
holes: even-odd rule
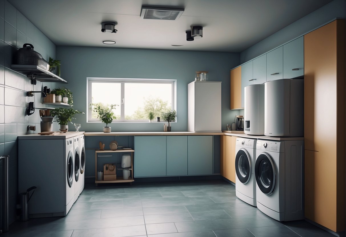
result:
[[[38,109],[26,115],[28,103],[46,107],[40,94],[27,97],[26,91],[41,91],[42,83],[33,86],[30,80],[11,70],[12,57],[23,44],[34,45],[34,50],[46,60],[55,58],[55,45],[8,1],[0,0],[0,156],[10,155],[9,160],[9,223],[16,220],[18,196],[18,135],[31,133],[28,125],[40,130]],[[53,88],[52,88],[53,89]],[[28,154],[30,155],[30,154]],[[28,187],[29,188],[29,187]]]

